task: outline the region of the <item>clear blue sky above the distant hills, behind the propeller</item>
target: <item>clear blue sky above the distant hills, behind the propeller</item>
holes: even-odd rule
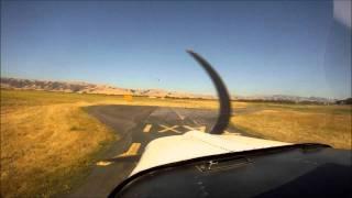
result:
[[[351,28],[331,1],[2,1],[1,76],[232,95],[351,96]]]

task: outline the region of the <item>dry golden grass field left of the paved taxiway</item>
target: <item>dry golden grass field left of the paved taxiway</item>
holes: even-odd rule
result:
[[[85,102],[32,103],[30,96],[15,100],[13,94],[28,92],[1,92],[1,196],[50,197],[69,190],[97,152],[116,139],[113,133],[80,109]]]

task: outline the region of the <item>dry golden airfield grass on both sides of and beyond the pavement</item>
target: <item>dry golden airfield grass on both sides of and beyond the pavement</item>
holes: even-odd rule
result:
[[[1,195],[69,191],[119,140],[82,110],[97,105],[218,108],[217,101],[1,89]],[[232,102],[231,123],[263,139],[351,148],[351,106]]]

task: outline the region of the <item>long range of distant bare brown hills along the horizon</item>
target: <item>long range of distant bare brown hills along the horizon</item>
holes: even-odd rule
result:
[[[26,89],[26,90],[46,90],[77,94],[102,94],[102,95],[132,95],[152,98],[190,98],[190,99],[216,99],[209,95],[194,95],[188,92],[168,91],[164,89],[128,89],[109,85],[96,85],[82,81],[52,81],[52,80],[32,80],[19,78],[1,78],[1,88],[7,89]],[[287,95],[272,96],[232,96],[232,100],[240,101],[273,101],[288,103],[334,103],[338,100],[320,97],[299,97]],[[341,100],[341,102],[343,102]]]

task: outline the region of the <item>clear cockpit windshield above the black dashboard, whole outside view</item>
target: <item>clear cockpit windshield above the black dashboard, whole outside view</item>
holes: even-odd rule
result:
[[[1,1],[1,197],[107,197],[230,153],[345,154],[351,73],[351,0]]]

